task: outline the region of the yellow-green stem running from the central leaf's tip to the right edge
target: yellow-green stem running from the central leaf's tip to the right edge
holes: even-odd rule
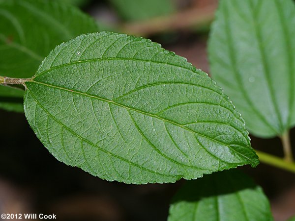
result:
[[[295,163],[286,161],[284,159],[281,159],[279,157],[273,156],[268,153],[264,153],[258,150],[255,150],[257,155],[259,156],[259,160],[262,163],[284,169],[286,171],[294,172],[295,173]]]

